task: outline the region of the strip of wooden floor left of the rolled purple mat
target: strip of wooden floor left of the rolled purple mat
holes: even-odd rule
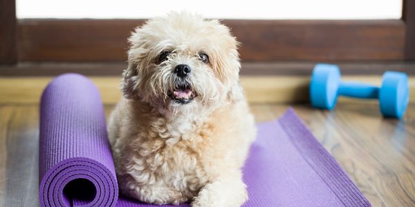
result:
[[[6,168],[1,187],[6,193],[0,197],[4,206],[39,206],[38,146],[39,126],[36,106],[1,107],[6,116],[6,136],[1,136],[6,153]],[[3,113],[2,113],[3,115]],[[3,117],[3,116],[2,116]]]

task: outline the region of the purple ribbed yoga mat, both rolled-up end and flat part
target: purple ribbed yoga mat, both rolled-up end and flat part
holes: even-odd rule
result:
[[[258,125],[243,179],[249,193],[244,206],[370,206],[293,109]],[[39,201],[42,206],[152,206],[118,197],[100,94],[81,75],[55,78],[42,95]]]

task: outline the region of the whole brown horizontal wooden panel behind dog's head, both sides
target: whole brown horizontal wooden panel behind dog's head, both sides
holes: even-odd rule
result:
[[[143,20],[24,19],[19,61],[125,61],[127,37]],[[244,61],[400,61],[402,20],[224,20]]]

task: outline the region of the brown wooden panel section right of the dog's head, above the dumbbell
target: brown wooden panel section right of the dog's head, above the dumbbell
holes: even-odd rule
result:
[[[402,21],[230,21],[250,61],[403,59]],[[252,38],[253,37],[253,38]]]

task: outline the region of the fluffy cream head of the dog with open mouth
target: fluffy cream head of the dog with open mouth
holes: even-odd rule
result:
[[[241,99],[238,42],[219,21],[172,12],[136,28],[129,43],[124,97],[179,110]]]

